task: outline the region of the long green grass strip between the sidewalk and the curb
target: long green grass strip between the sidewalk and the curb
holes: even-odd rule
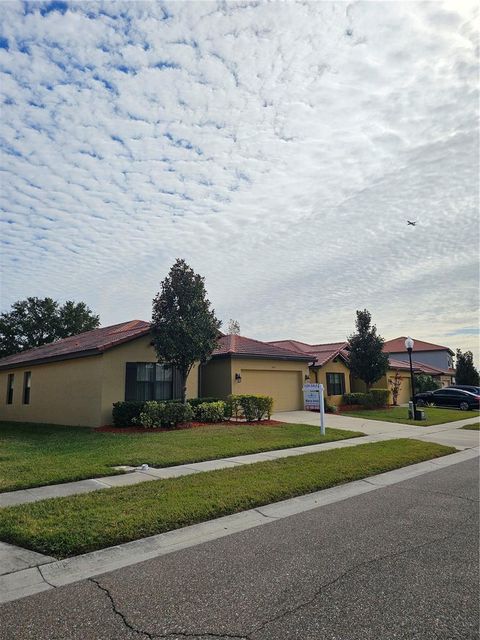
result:
[[[390,440],[54,498],[2,509],[0,539],[68,557],[454,451],[430,442]]]

